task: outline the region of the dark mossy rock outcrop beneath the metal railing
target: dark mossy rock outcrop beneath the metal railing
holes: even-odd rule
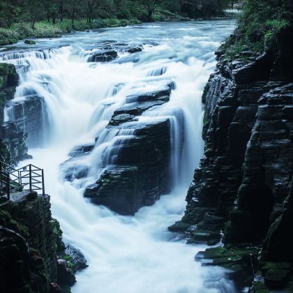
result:
[[[51,215],[49,195],[13,193],[10,200],[0,197],[0,202],[0,271],[1,279],[6,280],[1,290],[60,292],[59,285],[73,285],[74,271],[87,264],[76,262],[75,269],[71,257],[75,248],[66,254],[59,223]]]

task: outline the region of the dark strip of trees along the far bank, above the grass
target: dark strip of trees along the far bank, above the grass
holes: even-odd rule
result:
[[[0,27],[10,27],[13,23],[47,20],[53,24],[65,18],[87,20],[117,17],[137,18],[151,21],[157,10],[186,17],[211,17],[220,15],[223,8],[234,4],[228,0],[1,0]]]

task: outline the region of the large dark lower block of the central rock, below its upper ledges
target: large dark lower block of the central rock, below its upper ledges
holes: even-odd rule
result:
[[[123,215],[133,215],[169,190],[169,121],[140,123],[135,127],[136,136],[120,146],[116,166],[106,170],[84,193],[91,202]]]

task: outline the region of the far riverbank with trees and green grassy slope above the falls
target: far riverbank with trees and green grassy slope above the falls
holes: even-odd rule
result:
[[[28,37],[223,16],[236,0],[1,0],[0,45]]]

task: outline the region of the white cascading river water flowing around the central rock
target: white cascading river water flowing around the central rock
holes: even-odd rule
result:
[[[36,93],[45,99],[50,123],[46,146],[29,151],[33,164],[45,170],[46,192],[64,240],[88,260],[89,268],[77,274],[73,292],[234,292],[222,270],[194,261],[202,246],[188,246],[167,231],[182,216],[188,184],[202,156],[201,95],[215,66],[213,51],[233,25],[231,20],[181,22],[72,33],[38,40],[40,47],[57,49],[3,57],[15,63],[20,74],[15,98]],[[94,44],[109,38],[144,49],[119,53],[111,63],[87,63]],[[135,136],[131,127],[105,128],[114,110],[133,103],[126,96],[162,89],[170,82],[170,102],[151,107],[137,123],[170,119],[172,193],[135,216],[119,216],[84,200],[85,186],[115,164],[121,144]],[[6,109],[6,120],[13,119],[12,112]],[[68,163],[87,167],[87,177],[64,181],[60,164],[68,152],[93,142],[93,151]]]

